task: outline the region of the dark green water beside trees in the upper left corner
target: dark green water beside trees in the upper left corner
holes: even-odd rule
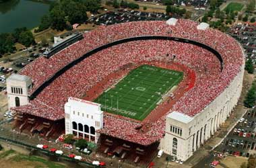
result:
[[[34,28],[48,11],[49,4],[37,1],[9,0],[0,3],[0,33],[13,32],[21,27]]]

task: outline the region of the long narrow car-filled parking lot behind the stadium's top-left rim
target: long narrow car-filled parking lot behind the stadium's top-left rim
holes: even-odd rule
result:
[[[97,25],[111,25],[120,24],[124,22],[133,21],[145,21],[145,20],[167,20],[168,15],[164,13],[156,12],[143,12],[143,11],[133,11],[127,9],[119,9],[117,11],[108,11],[103,15],[98,15],[96,17],[91,17],[89,22]]]

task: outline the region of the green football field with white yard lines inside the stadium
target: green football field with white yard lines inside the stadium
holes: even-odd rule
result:
[[[143,120],[182,79],[183,72],[141,65],[94,102],[102,105],[102,111]]]

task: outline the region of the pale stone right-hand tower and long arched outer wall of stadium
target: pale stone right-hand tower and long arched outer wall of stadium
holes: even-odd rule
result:
[[[242,66],[230,85],[195,116],[190,117],[182,112],[168,114],[160,149],[182,161],[189,159],[230,116],[241,95],[244,71]]]

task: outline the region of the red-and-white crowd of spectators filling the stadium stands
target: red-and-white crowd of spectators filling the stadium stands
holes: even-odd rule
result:
[[[49,120],[63,119],[64,104],[68,97],[82,97],[106,75],[117,71],[123,65],[160,58],[170,60],[175,56],[174,62],[179,62],[195,71],[195,85],[174,104],[169,112],[177,111],[194,116],[224,91],[241,71],[244,61],[243,50],[233,38],[211,28],[197,30],[198,24],[179,19],[176,26],[170,26],[166,22],[160,21],[100,26],[98,29],[84,34],[84,40],[61,50],[51,58],[37,58],[22,69],[20,74],[32,77],[34,83],[32,91],[35,91],[61,67],[93,48],[123,38],[150,35],[187,38],[206,44],[222,55],[224,61],[222,71],[218,58],[212,52],[199,46],[169,40],[127,42],[106,48],[82,60],[55,79],[28,105],[14,110]],[[141,132],[136,129],[137,122],[121,118],[117,120],[113,116],[104,115],[104,128],[99,132],[147,145],[162,138],[165,118],[166,116],[162,116],[156,122],[150,123],[148,132]]]

